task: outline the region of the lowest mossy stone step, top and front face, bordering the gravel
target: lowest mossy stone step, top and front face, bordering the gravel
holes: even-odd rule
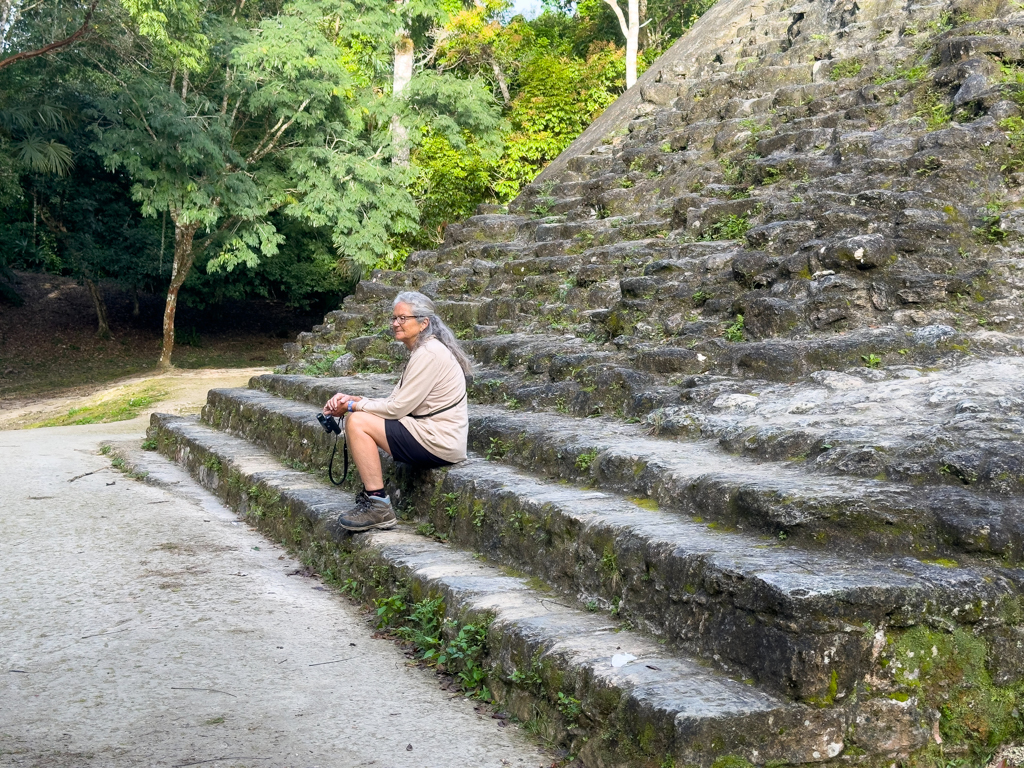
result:
[[[472,632],[467,627],[485,627],[476,651],[485,679],[478,682],[588,764],[710,766],[729,754],[804,764],[846,746],[845,711],[786,703],[730,680],[408,526],[348,536],[334,522],[351,505],[339,492],[189,420],[155,415],[153,423],[162,453],[269,536],[347,579],[355,594],[389,606],[399,614],[395,623],[440,598],[449,641]]]

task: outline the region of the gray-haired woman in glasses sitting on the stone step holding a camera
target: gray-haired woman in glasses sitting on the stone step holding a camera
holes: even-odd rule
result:
[[[425,469],[466,459],[469,358],[422,293],[395,297],[391,329],[412,352],[394,391],[386,398],[339,392],[324,407],[325,414],[345,416],[345,438],[362,480],[355,509],[338,520],[348,530],[390,528],[396,522],[377,449]]]

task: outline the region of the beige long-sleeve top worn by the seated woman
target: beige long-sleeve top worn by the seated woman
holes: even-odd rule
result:
[[[414,419],[459,404],[429,419]],[[416,347],[406,372],[388,397],[359,400],[357,408],[384,419],[397,419],[423,447],[453,464],[466,460],[469,439],[469,403],[462,367],[437,339]]]

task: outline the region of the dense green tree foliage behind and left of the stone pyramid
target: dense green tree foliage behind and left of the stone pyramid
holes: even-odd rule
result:
[[[711,5],[650,0],[641,69]],[[10,52],[80,20],[47,7],[23,8]],[[176,264],[186,303],[331,308],[359,267],[401,268],[447,222],[514,197],[622,92],[604,3],[508,8],[101,5],[88,55],[0,72],[0,278],[6,263],[161,293]],[[419,61],[399,98],[396,27]],[[392,163],[394,116],[408,167]],[[52,228],[33,225],[41,211]]]

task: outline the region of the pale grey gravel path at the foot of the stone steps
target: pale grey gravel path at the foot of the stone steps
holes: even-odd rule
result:
[[[0,766],[550,765],[184,475],[113,470],[141,427],[0,432]]]

